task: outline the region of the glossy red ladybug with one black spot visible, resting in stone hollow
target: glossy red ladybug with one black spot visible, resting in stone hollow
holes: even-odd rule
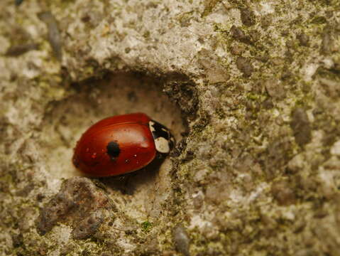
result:
[[[169,154],[174,144],[169,129],[146,114],[122,114],[89,127],[75,146],[72,162],[89,176],[116,176]]]

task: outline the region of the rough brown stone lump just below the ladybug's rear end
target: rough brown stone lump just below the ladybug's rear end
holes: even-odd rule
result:
[[[37,228],[40,235],[45,235],[57,223],[66,223],[72,226],[74,238],[88,238],[100,227],[105,213],[113,215],[114,211],[114,204],[91,180],[69,178],[62,183],[59,193],[40,209]]]

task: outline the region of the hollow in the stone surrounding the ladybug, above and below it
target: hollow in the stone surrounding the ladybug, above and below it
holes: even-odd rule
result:
[[[187,78],[169,74],[165,81],[133,73],[107,75],[75,85],[74,95],[51,104],[38,138],[48,179],[82,175],[72,164],[73,148],[87,128],[105,117],[144,112],[171,129],[180,142],[181,134],[187,132],[181,113],[195,118],[198,101]],[[180,107],[165,95],[163,87]],[[116,208],[141,223],[147,218],[157,221],[166,214],[163,203],[171,194],[171,169],[172,161],[167,157],[126,176],[100,181]]]

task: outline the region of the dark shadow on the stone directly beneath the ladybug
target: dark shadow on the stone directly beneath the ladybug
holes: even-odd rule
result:
[[[165,160],[164,157],[157,157],[148,166],[133,171],[128,174],[122,174],[119,176],[98,178],[98,180],[113,190],[121,191],[126,195],[133,195],[138,186],[143,183],[150,183],[155,180],[155,177],[160,169],[160,165]]]

